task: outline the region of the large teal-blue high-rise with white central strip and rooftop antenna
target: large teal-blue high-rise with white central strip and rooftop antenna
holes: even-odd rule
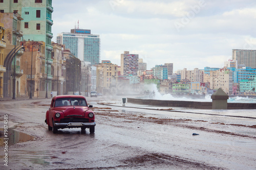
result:
[[[57,43],[66,45],[70,52],[81,61],[100,63],[100,38],[91,34],[91,30],[72,29],[71,33],[60,33]]]

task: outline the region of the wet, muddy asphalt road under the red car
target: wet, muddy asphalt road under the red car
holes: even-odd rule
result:
[[[9,127],[33,137],[8,145],[8,166],[2,146],[0,169],[256,169],[255,119],[97,104],[117,99],[88,98],[95,134],[48,131],[50,99],[0,102],[1,120],[8,114]]]

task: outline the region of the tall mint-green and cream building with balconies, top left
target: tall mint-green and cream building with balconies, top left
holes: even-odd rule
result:
[[[53,37],[51,27],[52,20],[52,0],[9,0],[1,1],[0,10],[2,13],[17,13],[23,20],[20,23],[20,30],[23,31],[25,41],[44,41],[45,60],[42,63],[45,69],[45,90],[51,90],[51,53],[53,47],[51,39]],[[16,38],[16,37],[13,37]],[[48,80],[48,88],[46,81]]]

